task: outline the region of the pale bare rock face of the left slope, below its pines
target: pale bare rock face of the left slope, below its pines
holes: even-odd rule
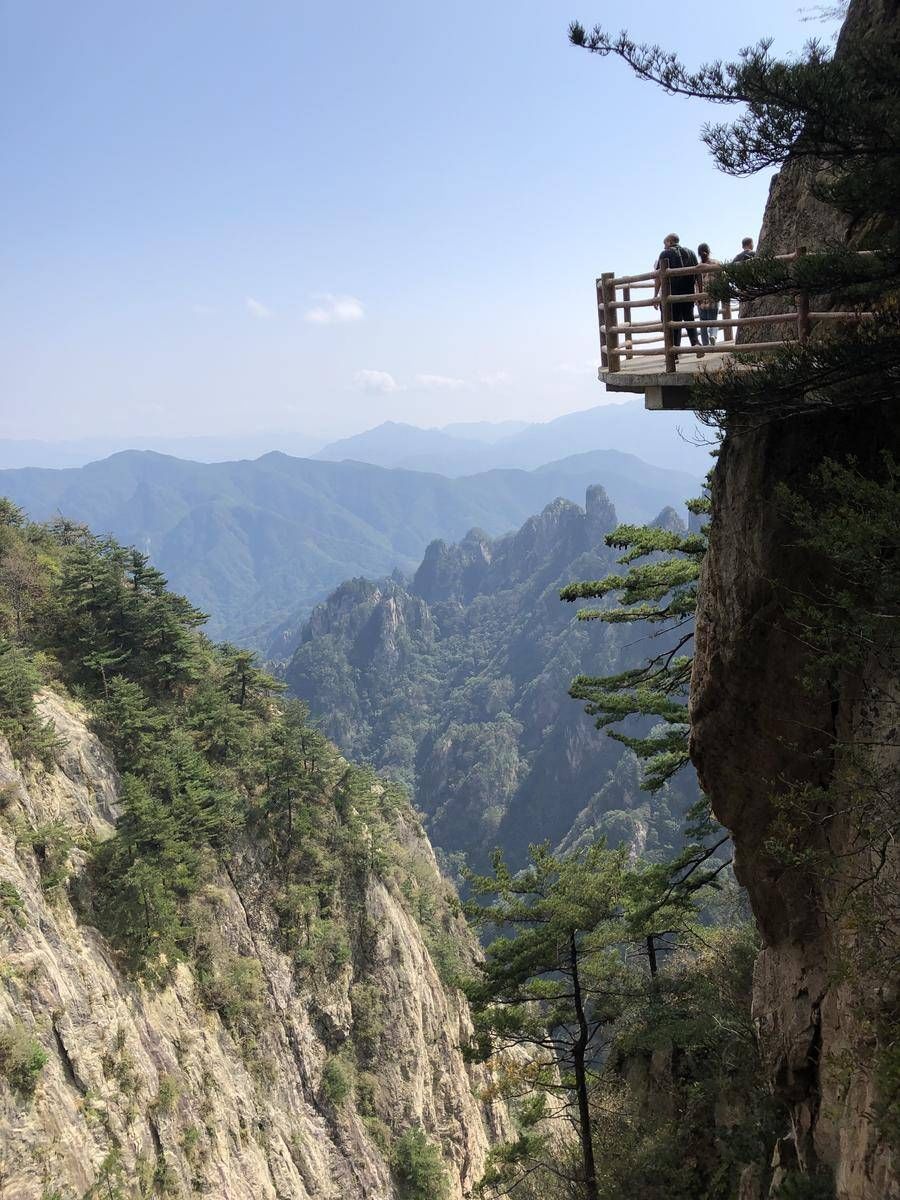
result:
[[[368,877],[341,961],[301,985],[247,844],[198,898],[233,996],[210,1006],[186,962],[145,988],[71,899],[84,847],[116,818],[112,760],[72,701],[48,691],[41,710],[65,742],[52,769],[20,769],[0,738],[0,1194],[392,1200],[390,1145],[421,1124],[458,1200],[505,1117],[478,1099],[484,1078],[458,1051],[467,1006],[390,872]],[[439,888],[412,818],[396,836]],[[452,918],[445,936],[466,953]]]

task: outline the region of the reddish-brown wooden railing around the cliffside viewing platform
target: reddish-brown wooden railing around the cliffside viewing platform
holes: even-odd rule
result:
[[[792,254],[776,254],[781,260],[792,260],[806,253],[805,247],[794,251]],[[859,253],[871,253],[860,251]],[[625,361],[636,358],[665,359],[666,372],[678,371],[678,356],[680,354],[760,354],[766,350],[780,348],[787,341],[792,341],[791,332],[799,342],[808,341],[812,325],[817,322],[829,320],[859,320],[869,317],[869,313],[860,312],[811,312],[809,294],[798,290],[794,295],[796,308],[793,312],[767,313],[764,316],[746,316],[732,313],[730,301],[721,305],[721,317],[715,320],[688,320],[677,322],[671,319],[671,307],[674,304],[696,305],[706,299],[703,292],[691,292],[683,295],[672,290],[672,280],[678,276],[696,275],[709,277],[718,275],[722,263],[701,263],[698,266],[674,266],[662,263],[658,270],[647,275],[624,275],[617,278],[613,271],[606,271],[596,281],[596,304],[600,317],[600,365],[602,371],[622,371],[623,359]],[[652,295],[643,298],[634,296],[632,292],[650,290]],[[635,308],[659,308],[659,317],[654,320],[635,320]],[[709,304],[714,307],[714,304]],[[622,313],[622,317],[619,317]],[[787,325],[788,331],[785,337],[778,341],[766,342],[738,342],[734,331],[749,329],[754,325]],[[677,329],[720,329],[722,338],[715,346],[676,346],[674,332]],[[648,365],[648,370],[653,370]]]

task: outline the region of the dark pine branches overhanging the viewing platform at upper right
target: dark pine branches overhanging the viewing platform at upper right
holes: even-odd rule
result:
[[[860,37],[845,29],[838,53],[811,41],[796,59],[779,60],[772,41],[738,59],[689,70],[671,50],[636,43],[626,32],[588,31],[574,22],[572,44],[622,59],[635,74],[671,95],[740,104],[733,121],[704,126],[702,139],[730,175],[750,175],[790,161],[804,169],[814,194],[844,214],[854,248],[823,246],[794,259],[762,253],[728,264],[710,288],[720,299],[823,295],[828,307],[869,311],[874,319],[841,323],[826,335],[788,343],[756,371],[700,379],[694,401],[713,424],[784,420],[823,408],[857,407],[900,392],[900,44],[895,35]],[[797,250],[799,247],[790,247]]]

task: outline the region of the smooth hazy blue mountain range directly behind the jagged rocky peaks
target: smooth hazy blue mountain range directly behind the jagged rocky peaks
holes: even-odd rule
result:
[[[0,472],[0,494],[32,520],[62,514],[138,546],[211,614],[210,636],[265,646],[342,580],[412,571],[434,538],[503,533],[596,482],[626,520],[644,521],[695,494],[698,476],[604,450],[458,479],[284,454],[197,463],[127,451],[79,468]]]

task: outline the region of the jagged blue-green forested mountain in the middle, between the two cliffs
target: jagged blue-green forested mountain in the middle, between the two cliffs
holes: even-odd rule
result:
[[[658,518],[677,527],[671,509]],[[482,863],[500,845],[608,834],[648,852],[677,840],[692,774],[648,797],[632,754],[568,696],[581,671],[647,655],[641,626],[576,622],[574,578],[616,569],[617,517],[601,487],[554,500],[515,534],[428,546],[415,576],[350,580],[318,606],[287,670],[342,750],[412,787],[432,841]]]

